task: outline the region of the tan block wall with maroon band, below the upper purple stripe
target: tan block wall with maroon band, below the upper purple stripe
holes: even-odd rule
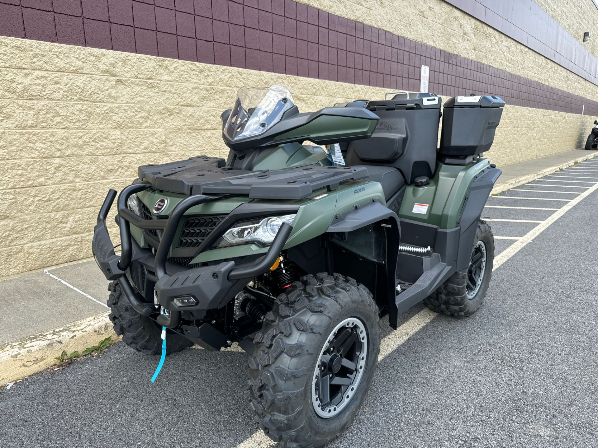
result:
[[[219,115],[242,85],[313,111],[419,90],[429,65],[444,100],[507,100],[499,166],[581,147],[598,115],[598,86],[441,0],[55,3],[0,0],[0,277],[89,257],[106,191],[138,165],[224,157]]]

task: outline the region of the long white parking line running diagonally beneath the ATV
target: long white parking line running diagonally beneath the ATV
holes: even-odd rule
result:
[[[573,208],[574,205],[578,204],[583,198],[590,195],[592,192],[598,189],[598,183],[591,188],[588,188],[574,200],[570,201],[568,204],[565,204],[562,208],[541,208],[539,210],[557,210],[556,213],[551,214],[547,220],[542,221],[538,226],[532,229],[532,231],[527,232],[521,238],[518,238],[515,243],[511,244],[507,249],[502,251],[498,254],[494,259],[494,266],[492,271],[498,269],[505,263],[509,258],[514,256],[521,248],[525,247],[528,243],[533,241],[539,234],[541,234],[545,229],[547,229],[552,223],[554,223],[557,219],[559,219],[563,214],[565,214],[568,210]],[[494,207],[494,208],[526,208],[526,207],[499,207],[495,206],[486,206],[486,207]],[[536,210],[536,209],[532,209]],[[393,350],[398,348],[402,343],[409,339],[409,337],[413,336],[418,330],[422,329],[426,324],[434,320],[438,314],[429,311],[428,309],[423,309],[422,311],[418,312],[414,315],[410,320],[402,324],[398,329],[394,332],[390,333],[384,339],[380,341],[380,357],[379,359],[383,359],[388,356]],[[392,349],[390,349],[392,348]],[[276,442],[271,440],[264,431],[261,429],[251,437],[247,438],[245,441],[240,443],[237,448],[266,448],[274,446]]]

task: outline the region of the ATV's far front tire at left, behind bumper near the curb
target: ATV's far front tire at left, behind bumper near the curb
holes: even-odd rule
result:
[[[161,327],[151,318],[142,316],[133,309],[118,284],[118,280],[112,281],[108,285],[108,291],[110,291],[110,296],[106,304],[112,311],[108,317],[114,325],[114,332],[117,335],[123,335],[124,343],[138,352],[149,355],[161,353]],[[166,353],[179,352],[193,345],[193,342],[186,337],[170,330],[166,331]]]

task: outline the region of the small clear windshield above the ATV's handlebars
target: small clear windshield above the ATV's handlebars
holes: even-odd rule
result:
[[[224,133],[231,140],[257,136],[279,122],[282,114],[292,107],[291,92],[282,85],[241,87]]]

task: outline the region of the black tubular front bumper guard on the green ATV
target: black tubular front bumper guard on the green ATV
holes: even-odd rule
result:
[[[118,280],[135,311],[144,316],[155,314],[155,320],[164,327],[178,327],[182,312],[188,311],[191,313],[191,318],[201,319],[208,309],[224,306],[252,278],[263,274],[274,264],[291,234],[292,226],[283,223],[267,253],[253,262],[236,265],[233,261],[223,261],[193,269],[175,267],[167,263],[166,259],[183,214],[194,205],[213,201],[222,196],[190,196],[173,208],[168,219],[144,220],[132,213],[126,204],[130,195],[147,188],[149,185],[143,183],[129,185],[118,197],[120,255],[115,253],[106,228],[106,218],[117,192],[114,190],[108,192],[93,229],[91,250],[106,279]],[[155,256],[151,251],[140,248],[132,239],[131,223],[142,229],[163,229]],[[145,300],[145,297],[152,296],[154,302]],[[158,314],[159,306],[167,311],[166,315]]]

